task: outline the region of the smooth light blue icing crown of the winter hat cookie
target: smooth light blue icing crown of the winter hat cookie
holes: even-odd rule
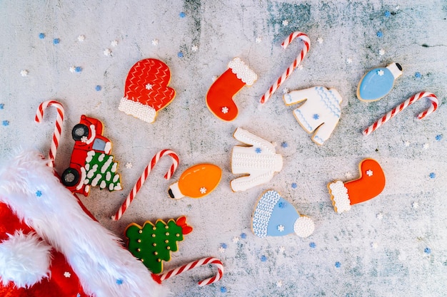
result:
[[[293,224],[295,224],[298,218],[299,214],[296,212],[295,207],[280,197],[271,211],[271,217],[267,226],[267,236],[284,236],[294,233]],[[283,226],[283,231],[279,231],[278,226]]]

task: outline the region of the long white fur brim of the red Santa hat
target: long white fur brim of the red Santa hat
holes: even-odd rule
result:
[[[168,291],[123,248],[120,239],[81,209],[47,163],[39,152],[28,150],[1,167],[0,201],[64,254],[87,294],[167,296]]]

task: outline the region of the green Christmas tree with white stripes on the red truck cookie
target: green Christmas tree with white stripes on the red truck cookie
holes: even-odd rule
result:
[[[116,173],[117,168],[118,163],[114,162],[114,156],[90,151],[86,158],[84,183],[92,187],[99,186],[100,189],[109,189],[109,191],[121,189],[120,176]]]

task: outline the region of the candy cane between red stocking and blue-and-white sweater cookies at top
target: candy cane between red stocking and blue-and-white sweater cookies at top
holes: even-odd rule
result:
[[[296,57],[295,61],[291,63],[291,66],[288,66],[286,71],[284,71],[283,75],[281,75],[278,80],[276,80],[276,83],[273,83],[271,87],[267,90],[267,92],[261,97],[261,104],[264,104],[267,102],[268,99],[271,98],[271,95],[275,93],[275,91],[279,88],[280,85],[288,78],[289,75],[295,70],[295,68],[303,61],[304,56],[306,56],[306,53],[308,52],[309,48],[311,48],[311,40],[308,38],[308,36],[300,31],[296,31],[291,33],[288,38],[281,44],[281,46],[285,49],[287,46],[293,41],[295,38],[300,38],[301,41],[303,41],[303,48],[301,49],[300,53]]]

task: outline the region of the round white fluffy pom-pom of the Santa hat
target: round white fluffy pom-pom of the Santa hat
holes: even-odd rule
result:
[[[0,243],[0,278],[3,286],[10,281],[17,288],[29,288],[49,277],[51,246],[35,233],[18,230]]]

